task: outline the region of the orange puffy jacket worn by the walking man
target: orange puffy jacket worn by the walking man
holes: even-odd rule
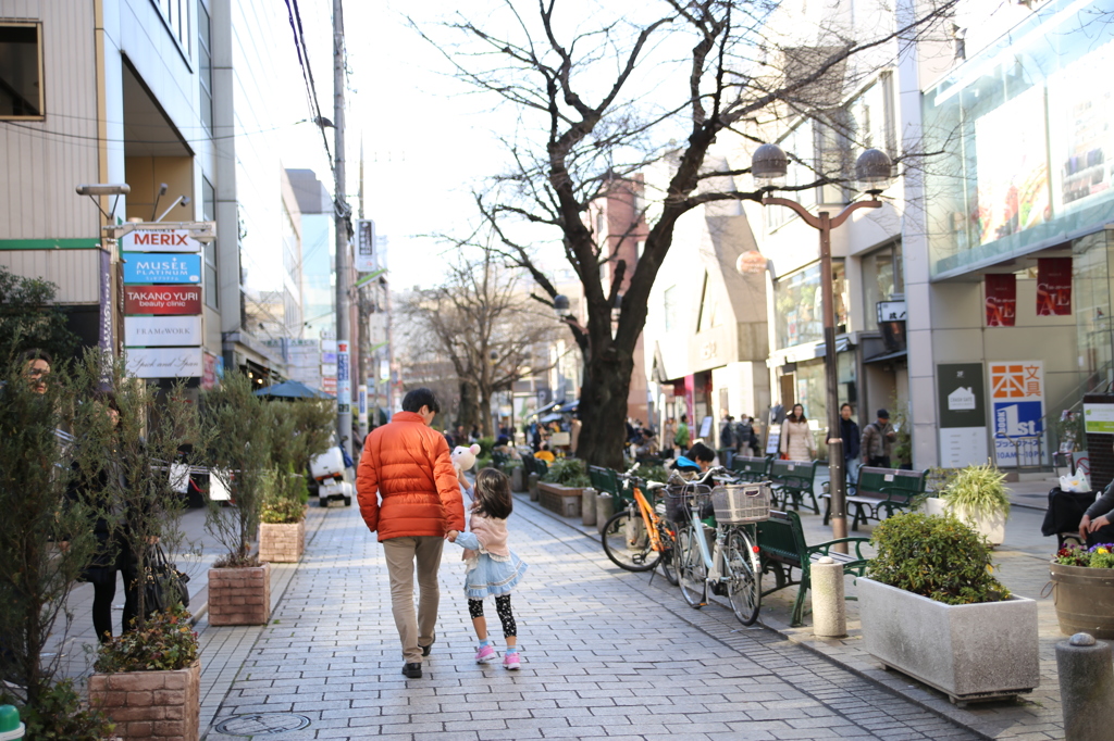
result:
[[[368,435],[355,492],[360,514],[380,541],[465,530],[449,444],[413,412],[399,412]]]

